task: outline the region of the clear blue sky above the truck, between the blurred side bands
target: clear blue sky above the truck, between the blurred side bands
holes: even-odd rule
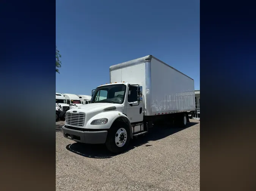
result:
[[[199,0],[56,0],[62,67],[56,91],[91,95],[109,66],[146,55],[176,68],[200,89]]]

